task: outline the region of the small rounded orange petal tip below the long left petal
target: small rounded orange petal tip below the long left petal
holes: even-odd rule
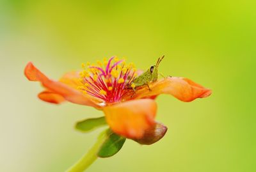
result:
[[[53,93],[51,91],[42,91],[41,93],[38,94],[38,98],[52,104],[60,104],[62,102],[65,102],[64,97],[62,97],[61,95],[58,95],[57,93]]]

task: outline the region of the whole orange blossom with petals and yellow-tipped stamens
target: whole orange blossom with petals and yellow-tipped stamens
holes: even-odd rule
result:
[[[148,132],[159,126],[154,121],[157,95],[173,95],[184,102],[211,95],[211,90],[182,77],[159,79],[150,83],[151,90],[142,86],[134,93],[127,89],[137,74],[134,65],[125,65],[124,60],[116,58],[104,59],[103,63],[98,61],[98,65],[82,66],[84,70],[69,72],[59,81],[49,79],[31,62],[24,72],[29,81],[39,81],[44,86],[45,90],[38,94],[41,100],[54,104],[67,100],[95,107],[104,112],[109,127],[116,134],[137,141],[145,140]]]

